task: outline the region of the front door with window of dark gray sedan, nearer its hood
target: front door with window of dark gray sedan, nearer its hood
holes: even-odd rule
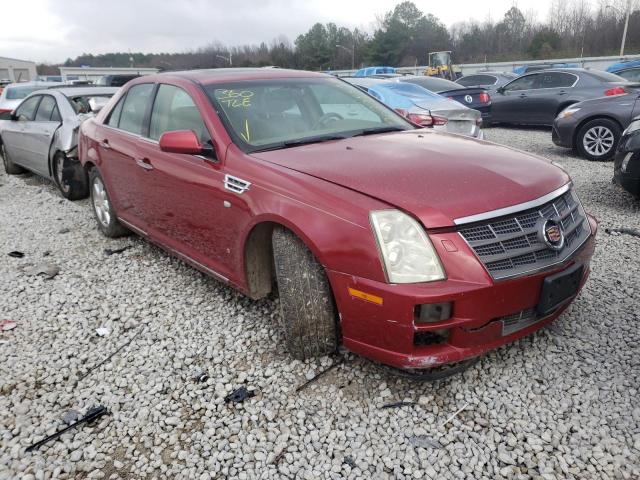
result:
[[[534,92],[538,73],[523,75],[507,83],[491,97],[493,122],[532,123],[529,117],[529,97]]]

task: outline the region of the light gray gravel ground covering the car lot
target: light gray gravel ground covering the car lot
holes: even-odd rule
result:
[[[108,240],[87,201],[0,175],[0,320],[17,323],[0,333],[0,479],[640,478],[640,239],[604,232],[640,228],[639,203],[611,184],[611,163],[567,154],[548,130],[487,138],[572,174],[600,221],[593,271],[550,328],[434,383],[342,352],[296,393],[336,358],[292,361],[277,300],[244,298],[136,237]],[[43,261],[60,273],[28,275]],[[255,396],[224,402],[243,385]],[[415,404],[381,408],[399,401]],[[111,414],[24,452],[97,404]]]

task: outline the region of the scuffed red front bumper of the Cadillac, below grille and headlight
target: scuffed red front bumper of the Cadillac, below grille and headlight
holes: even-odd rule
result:
[[[524,322],[517,331],[503,324],[514,314],[538,304],[545,277],[576,262],[584,265],[580,286],[589,275],[597,224],[589,217],[592,233],[584,245],[556,268],[510,280],[493,281],[484,266],[455,232],[430,234],[446,266],[448,278],[422,284],[387,284],[336,271],[328,271],[340,312],[343,344],[349,350],[380,363],[403,369],[429,368],[481,355],[548,325],[575,298],[550,315]],[[446,241],[448,248],[445,249]],[[451,245],[455,251],[451,251]],[[365,292],[375,302],[353,296]],[[416,306],[451,302],[451,317],[436,323],[416,323]],[[425,338],[442,338],[427,341]],[[438,335],[434,335],[434,334]]]

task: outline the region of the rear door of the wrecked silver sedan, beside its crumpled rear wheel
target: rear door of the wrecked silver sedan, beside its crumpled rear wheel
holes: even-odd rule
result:
[[[49,177],[49,151],[53,135],[60,126],[60,113],[56,99],[43,95],[35,118],[25,125],[25,141],[34,152],[33,171]]]

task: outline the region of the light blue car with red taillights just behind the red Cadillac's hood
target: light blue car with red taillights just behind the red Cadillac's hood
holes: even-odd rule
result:
[[[375,78],[345,78],[415,124],[448,133],[483,138],[482,116],[419,85]]]

